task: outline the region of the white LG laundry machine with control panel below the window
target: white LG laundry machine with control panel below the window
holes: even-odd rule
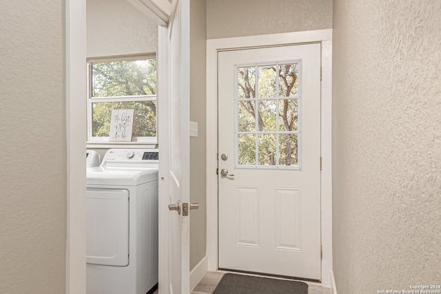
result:
[[[87,293],[158,285],[158,149],[110,149],[87,170]]]

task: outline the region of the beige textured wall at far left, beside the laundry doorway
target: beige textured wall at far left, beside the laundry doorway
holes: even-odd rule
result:
[[[0,9],[0,293],[64,293],[64,1]]]

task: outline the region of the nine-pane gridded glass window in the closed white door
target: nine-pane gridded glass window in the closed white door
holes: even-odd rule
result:
[[[301,60],[235,70],[236,167],[300,169]]]

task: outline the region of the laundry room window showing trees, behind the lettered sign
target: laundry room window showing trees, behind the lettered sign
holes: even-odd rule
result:
[[[88,143],[107,143],[113,109],[134,109],[132,142],[156,143],[156,58],[88,60]]]

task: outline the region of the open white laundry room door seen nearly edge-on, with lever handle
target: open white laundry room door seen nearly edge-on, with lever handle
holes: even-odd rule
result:
[[[169,24],[170,98],[168,103],[169,288],[171,294],[189,293],[189,218],[182,203],[189,202],[189,0],[174,1]],[[160,291],[161,285],[160,285]]]

